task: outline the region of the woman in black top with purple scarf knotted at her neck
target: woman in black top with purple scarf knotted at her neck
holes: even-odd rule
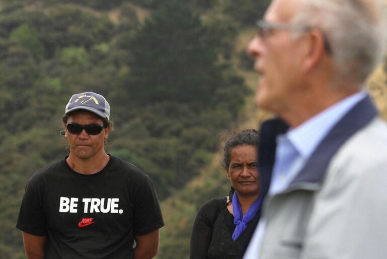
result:
[[[256,130],[244,130],[226,141],[223,166],[231,191],[199,209],[191,233],[191,259],[243,257],[262,204],[257,145]]]

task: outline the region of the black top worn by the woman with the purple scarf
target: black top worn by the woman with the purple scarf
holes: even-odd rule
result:
[[[234,216],[226,207],[226,197],[212,199],[200,207],[191,233],[191,259],[238,259],[245,253],[260,218],[260,210],[247,229],[234,241]]]

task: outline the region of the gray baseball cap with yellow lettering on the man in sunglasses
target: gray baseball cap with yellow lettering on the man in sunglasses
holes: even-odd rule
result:
[[[74,94],[68,101],[64,114],[68,114],[75,110],[91,111],[102,118],[109,119],[110,105],[105,97],[93,92],[85,92]]]

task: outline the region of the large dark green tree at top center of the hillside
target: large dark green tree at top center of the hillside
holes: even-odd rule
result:
[[[211,105],[221,81],[218,46],[186,5],[167,1],[128,42],[128,95],[138,103],[169,100],[193,109]]]

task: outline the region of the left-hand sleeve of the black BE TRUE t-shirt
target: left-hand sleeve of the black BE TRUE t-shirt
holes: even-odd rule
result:
[[[31,235],[47,235],[46,216],[43,209],[42,197],[31,181],[25,188],[24,197],[20,206],[16,228]]]

